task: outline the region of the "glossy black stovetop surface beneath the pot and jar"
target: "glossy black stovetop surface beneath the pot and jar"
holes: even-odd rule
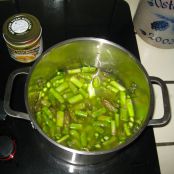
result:
[[[128,4],[122,0],[44,1],[22,0],[0,2],[0,31],[7,17],[17,12],[28,12],[41,22],[44,50],[74,37],[99,37],[113,41],[128,49],[138,59],[138,48]],[[100,5],[99,5],[100,4]],[[32,66],[10,58],[0,36],[0,100],[3,101],[9,74],[18,68]],[[11,107],[24,111],[24,84],[26,76],[16,79],[13,87]],[[1,111],[2,112],[2,111]],[[2,115],[2,113],[1,113]],[[159,162],[152,127],[115,156],[97,165],[75,166],[54,159],[49,152],[37,146],[38,132],[29,121],[6,117],[0,121],[0,135],[8,135],[16,141],[16,155],[11,161],[0,162],[3,174],[47,174],[47,173],[118,173],[159,174]]]

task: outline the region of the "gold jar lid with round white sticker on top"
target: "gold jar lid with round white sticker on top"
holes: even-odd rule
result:
[[[3,37],[12,46],[24,46],[37,41],[42,33],[39,20],[27,13],[9,17],[3,25]]]

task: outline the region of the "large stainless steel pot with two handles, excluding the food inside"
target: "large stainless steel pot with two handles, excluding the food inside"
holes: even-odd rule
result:
[[[136,117],[142,121],[139,130],[125,143],[105,151],[85,152],[74,150],[56,143],[49,138],[39,127],[33,111],[33,100],[29,98],[29,87],[38,79],[49,79],[57,69],[73,69],[85,66],[96,66],[112,73],[122,80],[126,88],[133,83],[137,85],[136,97],[133,98]],[[10,108],[10,96],[13,80],[16,75],[26,73],[28,78],[25,84],[25,104],[28,114],[13,111]],[[164,116],[161,119],[152,119],[154,110],[154,93],[152,83],[161,86]],[[98,38],[76,38],[58,43],[40,56],[29,69],[20,69],[13,72],[7,82],[4,108],[8,115],[30,120],[33,127],[39,132],[38,143],[54,156],[73,164],[94,164],[114,155],[123,147],[132,143],[146,128],[146,126],[162,126],[170,120],[169,96],[166,84],[159,78],[149,77],[143,66],[135,57],[121,46]]]

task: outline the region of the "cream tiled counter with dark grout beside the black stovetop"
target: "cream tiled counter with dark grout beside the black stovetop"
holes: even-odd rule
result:
[[[139,0],[126,0],[131,8],[132,17],[136,12]],[[174,81],[174,49],[159,49],[144,42],[139,36],[136,36],[141,62],[150,76],[157,76],[163,80]],[[163,102],[160,87],[155,89],[155,113],[154,118],[163,115]],[[165,127],[154,128],[155,139],[157,143],[174,142],[174,85],[168,85],[172,119]],[[157,147],[161,174],[174,174],[174,145]]]

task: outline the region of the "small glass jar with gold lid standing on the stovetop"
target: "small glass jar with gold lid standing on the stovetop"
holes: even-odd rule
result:
[[[3,37],[10,56],[16,61],[29,63],[43,51],[42,28],[39,20],[27,13],[9,17],[3,25]]]

